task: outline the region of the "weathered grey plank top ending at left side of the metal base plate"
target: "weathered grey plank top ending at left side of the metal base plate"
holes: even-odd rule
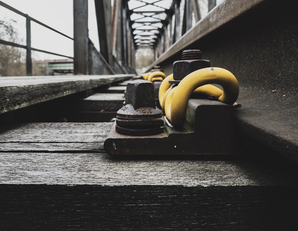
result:
[[[103,152],[113,123],[21,123],[1,127],[1,151]]]

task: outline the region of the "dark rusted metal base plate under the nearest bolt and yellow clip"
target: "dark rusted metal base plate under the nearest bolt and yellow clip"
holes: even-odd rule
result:
[[[104,143],[111,155],[233,155],[237,147],[234,108],[218,101],[190,100],[184,126],[164,122],[164,130],[155,135],[123,135],[115,126]]]

